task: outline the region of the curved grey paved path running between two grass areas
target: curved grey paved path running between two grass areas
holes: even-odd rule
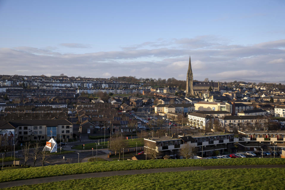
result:
[[[7,188],[7,187],[21,186],[21,185],[32,185],[37,183],[49,183],[54,181],[66,181],[72,179],[109,177],[115,175],[135,175],[135,174],[148,174],[148,173],[159,173],[159,172],[181,172],[181,171],[192,171],[192,170],[242,169],[242,168],[285,168],[285,165],[204,166],[204,167],[198,166],[198,167],[176,167],[176,168],[157,168],[157,169],[147,169],[147,170],[96,172],[96,173],[61,175],[61,176],[54,176],[48,178],[37,178],[37,179],[19,180],[13,182],[4,182],[0,183],[0,187]]]

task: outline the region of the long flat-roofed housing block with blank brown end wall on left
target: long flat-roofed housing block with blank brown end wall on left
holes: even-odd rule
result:
[[[153,137],[144,139],[144,148],[146,153],[148,149],[155,149],[162,158],[168,155],[172,158],[183,159],[179,150],[186,144],[194,149],[196,155],[207,157],[224,153],[235,153],[237,147],[234,143],[238,142],[238,138],[234,138],[232,133],[214,132],[209,134],[194,134],[175,137]]]

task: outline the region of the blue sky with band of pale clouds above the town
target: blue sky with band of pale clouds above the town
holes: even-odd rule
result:
[[[285,80],[285,1],[0,0],[0,74]]]

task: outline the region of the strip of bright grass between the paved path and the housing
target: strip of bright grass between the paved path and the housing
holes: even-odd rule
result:
[[[77,164],[50,165],[15,170],[0,171],[0,182],[43,178],[80,173],[141,170],[151,168],[225,166],[225,165],[265,165],[285,164],[282,158],[238,158],[238,159],[181,159],[181,160],[138,160],[121,162],[85,162]]]

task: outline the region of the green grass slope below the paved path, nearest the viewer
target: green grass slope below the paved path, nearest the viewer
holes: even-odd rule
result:
[[[7,189],[282,189],[284,180],[284,168],[225,169],[85,178]]]

